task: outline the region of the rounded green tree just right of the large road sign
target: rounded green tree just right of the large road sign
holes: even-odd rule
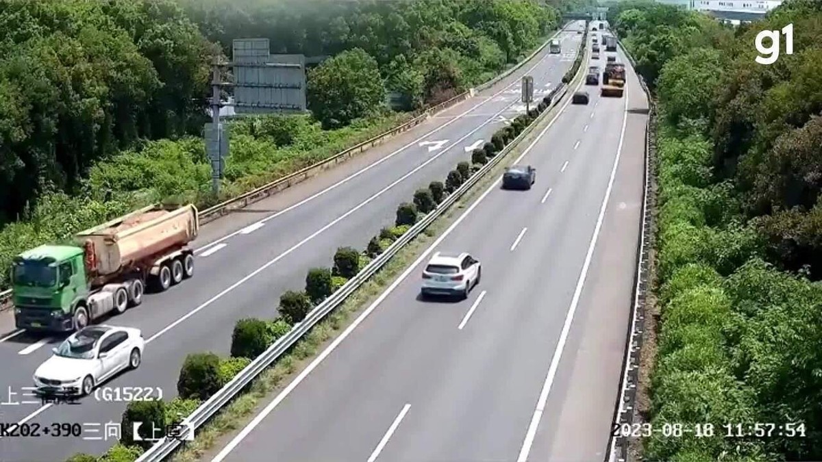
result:
[[[308,75],[308,107],[326,128],[367,117],[385,100],[376,60],[363,49],[339,53]]]

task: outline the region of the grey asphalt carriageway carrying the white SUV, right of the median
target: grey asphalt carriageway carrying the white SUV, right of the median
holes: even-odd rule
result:
[[[633,71],[625,98],[587,88],[510,161],[537,169],[532,190],[497,180],[212,462],[603,460],[648,102]],[[436,251],[482,262],[468,299],[418,297]]]

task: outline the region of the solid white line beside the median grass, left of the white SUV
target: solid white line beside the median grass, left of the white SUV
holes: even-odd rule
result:
[[[580,81],[580,85],[577,85],[577,90],[579,90],[581,85],[582,82]],[[540,141],[541,138],[548,131],[548,129],[553,126],[554,122],[556,122],[556,119],[558,119],[561,116],[561,114],[565,112],[566,108],[568,107],[568,104],[570,104],[570,100],[570,98],[566,100],[566,103],[562,105],[562,108],[559,110],[559,112],[556,113],[554,118],[551,119],[551,122],[548,122],[547,126],[543,128],[543,131],[539,132],[539,135],[533,141],[531,141],[531,144],[528,147],[526,147],[525,150],[523,150],[522,154],[520,154],[520,157],[518,157],[514,161],[514,164],[519,164],[520,161],[525,157],[525,155],[527,155],[533,149],[533,146],[537,145],[537,142]],[[288,395],[290,395],[291,392],[295,388],[297,388],[297,386],[303,380],[305,380],[306,377],[308,377],[308,374],[310,374],[314,369],[316,369],[316,367],[319,366],[320,363],[322,363],[331,354],[331,352],[333,352],[339,346],[339,344],[343,343],[343,340],[345,340],[349,335],[351,335],[353,330],[357,329],[357,327],[363,321],[365,321],[365,318],[370,316],[371,313],[374,312],[374,310],[376,310],[376,307],[378,307],[380,303],[382,303],[386,298],[388,298],[390,293],[394,292],[394,290],[399,286],[399,284],[402,284],[402,282],[407,277],[409,277],[413,270],[417,266],[419,266],[420,263],[422,263],[431,254],[431,252],[434,251],[434,248],[440,245],[440,243],[442,243],[442,241],[444,241],[450,235],[450,233],[452,233],[454,229],[456,229],[456,227],[459,226],[459,224],[462,223],[463,220],[466,217],[468,217],[468,215],[470,215],[471,212],[473,212],[473,210],[477,208],[477,206],[480,203],[483,202],[483,200],[488,196],[488,194],[490,194],[492,191],[496,189],[496,186],[499,184],[500,181],[501,178],[496,178],[496,180],[494,180],[494,182],[492,182],[492,184],[488,186],[485,192],[483,192],[482,196],[478,197],[477,201],[474,201],[474,203],[471,204],[471,206],[469,206],[469,208],[466,209],[462,215],[459,215],[459,218],[456,219],[455,222],[452,223],[448,227],[448,229],[446,229],[445,232],[443,232],[440,235],[439,238],[436,238],[436,240],[431,244],[431,246],[425,249],[425,251],[423,251],[423,253],[417,257],[417,260],[413,261],[411,266],[404,270],[403,273],[399,275],[399,277],[388,286],[385,292],[381,293],[380,296],[377,297],[376,300],[374,300],[374,302],[372,302],[372,304],[369,305],[365,309],[365,311],[363,311],[363,313],[360,314],[357,317],[357,319],[355,319],[351,323],[350,326],[343,330],[343,332],[334,341],[332,341],[331,344],[328,345],[328,347],[326,347],[326,349],[324,349],[322,353],[319,354],[319,356],[317,356],[311,363],[309,363],[308,366],[305,369],[303,369],[297,377],[294,377],[294,380],[291,381],[289,385],[286,386],[282,391],[280,391],[279,395],[276,395],[274,400],[271,400],[271,402],[268,405],[266,405],[266,407],[262,409],[260,413],[258,413],[256,417],[252,419],[251,422],[249,422],[245,427],[243,427],[242,430],[238,433],[238,435],[236,437],[233,437],[233,439],[229,441],[227,445],[224,446],[223,450],[220,450],[219,453],[215,455],[214,459],[212,459],[211,462],[221,462],[222,460],[224,460],[226,456],[228,456],[231,453],[231,451],[234,450],[234,448],[237,447],[242,442],[242,440],[244,440],[254,430],[254,428],[257,425],[260,425],[260,423],[268,416],[268,414],[270,414],[271,411],[273,411],[279,405],[279,403],[285,400],[285,398]]]

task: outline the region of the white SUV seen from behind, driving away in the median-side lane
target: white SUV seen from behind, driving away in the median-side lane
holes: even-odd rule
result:
[[[479,284],[482,268],[468,253],[436,252],[423,270],[426,295],[459,295],[467,298],[473,286]]]

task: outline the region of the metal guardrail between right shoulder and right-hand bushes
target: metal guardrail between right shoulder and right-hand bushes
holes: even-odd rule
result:
[[[622,52],[625,53],[631,67],[636,68],[634,58],[628,50],[617,40]],[[620,379],[620,396],[614,409],[613,423],[619,425],[631,425],[634,423],[636,414],[636,393],[640,379],[640,351],[642,349],[643,327],[645,310],[649,289],[649,262],[650,249],[653,244],[653,210],[656,208],[656,198],[651,194],[651,187],[654,180],[654,162],[656,159],[655,133],[652,133],[655,125],[653,117],[656,107],[644,78],[637,74],[640,85],[645,95],[648,96],[648,121],[645,122],[645,152],[644,152],[644,189],[642,199],[642,228],[640,230],[640,245],[637,248],[637,268],[635,274],[634,302],[631,305],[630,330],[626,335],[626,355],[622,363],[622,377]],[[606,462],[625,462],[628,458],[628,447],[630,439],[624,436],[611,437],[609,441]]]

